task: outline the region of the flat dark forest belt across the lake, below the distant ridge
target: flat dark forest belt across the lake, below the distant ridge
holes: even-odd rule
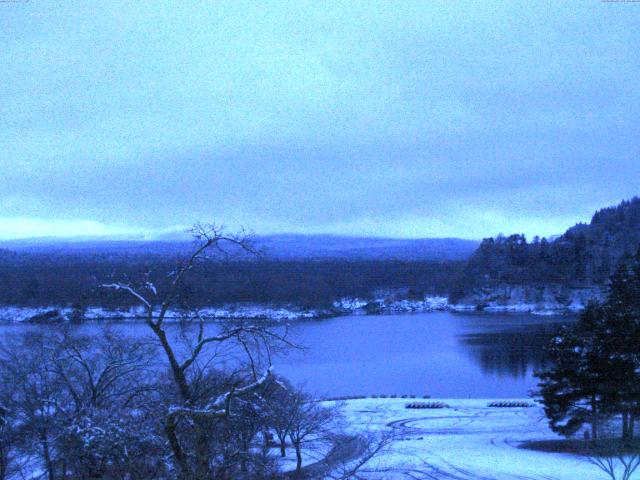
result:
[[[123,307],[122,297],[99,288],[114,279],[159,286],[176,256],[127,254],[33,254],[0,252],[0,304]],[[324,306],[344,296],[367,297],[380,289],[410,295],[444,294],[461,261],[400,260],[204,260],[181,286],[191,307],[224,303],[295,303]]]

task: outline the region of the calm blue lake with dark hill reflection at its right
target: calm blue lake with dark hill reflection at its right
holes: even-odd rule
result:
[[[521,398],[536,386],[533,372],[544,366],[543,346],[559,323],[568,321],[432,312],[296,322],[292,339],[306,349],[277,357],[274,365],[277,373],[323,397]],[[0,332],[24,328],[35,327],[1,325]],[[141,323],[118,328],[147,333]]]

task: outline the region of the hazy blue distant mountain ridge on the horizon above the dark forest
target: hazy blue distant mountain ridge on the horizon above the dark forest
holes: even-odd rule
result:
[[[171,256],[189,251],[186,236],[170,240],[27,239],[0,242],[0,248],[43,254],[129,254]],[[253,243],[268,258],[342,260],[465,260],[478,247],[459,238],[394,239],[338,235],[259,235]]]

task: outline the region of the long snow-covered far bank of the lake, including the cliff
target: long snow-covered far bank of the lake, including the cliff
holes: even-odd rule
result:
[[[385,315],[427,313],[449,310],[453,312],[482,311],[486,313],[530,313],[534,315],[570,315],[602,297],[601,289],[544,285],[540,287],[502,285],[482,289],[466,296],[458,303],[449,303],[447,297],[425,295],[411,297],[405,292],[379,292],[372,298],[341,298],[327,308],[303,308],[297,305],[230,304],[205,307],[200,313],[210,319],[253,319],[274,322],[312,320],[344,315]],[[171,310],[167,318],[179,320],[180,310]],[[57,323],[73,319],[85,320],[141,320],[145,312],[141,307],[106,309],[98,306],[81,311],[69,307],[0,307],[0,321]]]

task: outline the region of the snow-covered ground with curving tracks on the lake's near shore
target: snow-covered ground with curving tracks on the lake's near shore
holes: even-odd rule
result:
[[[344,404],[353,433],[393,430],[397,434],[390,449],[372,461],[371,467],[384,470],[375,478],[608,478],[585,458],[521,448],[529,440],[558,438],[547,427],[542,408],[530,400],[534,406],[529,408],[495,408],[488,407],[488,400],[464,399],[437,400],[449,408],[405,408],[411,401],[363,399]]]

